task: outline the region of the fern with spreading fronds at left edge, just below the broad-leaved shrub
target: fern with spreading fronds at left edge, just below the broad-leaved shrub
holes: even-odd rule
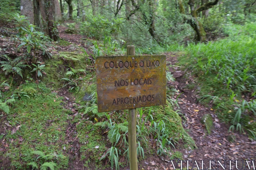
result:
[[[8,75],[12,73],[13,77],[16,75],[22,76],[22,69],[25,69],[26,67],[29,67],[29,65],[24,64],[24,61],[20,61],[22,59],[22,56],[16,57],[15,59],[11,59],[7,55],[2,55],[2,58],[4,58],[6,61],[0,61],[1,68],[5,72],[5,75]]]

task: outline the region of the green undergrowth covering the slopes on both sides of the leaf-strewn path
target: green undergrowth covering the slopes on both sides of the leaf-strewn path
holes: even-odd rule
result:
[[[12,17],[16,29],[6,28],[12,36],[0,39],[2,167],[125,168],[129,161],[128,113],[98,113],[94,68],[97,56],[126,54],[127,41],[118,39],[124,21],[116,19],[112,24],[98,17],[84,23],[64,23],[68,26],[66,35],[77,33],[74,31],[80,26],[85,38],[74,43],[64,39],[52,42],[24,16]],[[113,27],[99,32],[95,28],[101,25]],[[183,36],[182,43],[137,46],[136,54],[182,53],[171,67],[192,71],[197,82],[191,88],[199,92],[198,102],[210,104],[220,120],[230,125],[230,131],[255,139],[255,31],[254,22],[243,26],[229,23],[223,29],[228,37],[217,41],[183,43],[188,36],[184,33],[177,35]],[[166,80],[175,81],[171,72]],[[167,90],[171,91],[169,98],[180,94]],[[139,162],[152,157],[182,159],[175,149],[196,148],[173,110],[178,102],[177,98],[165,106],[137,109]]]

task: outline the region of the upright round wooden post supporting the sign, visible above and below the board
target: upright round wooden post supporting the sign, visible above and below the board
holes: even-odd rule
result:
[[[133,45],[127,46],[127,55],[135,55],[135,47]],[[130,170],[138,170],[137,142],[136,142],[136,108],[129,109],[128,146],[129,146]]]

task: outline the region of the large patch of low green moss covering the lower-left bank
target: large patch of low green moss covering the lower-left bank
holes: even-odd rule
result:
[[[30,154],[32,151],[56,152],[64,155],[58,160],[57,169],[67,168],[68,155],[62,147],[66,138],[67,112],[60,106],[62,98],[56,98],[57,94],[43,83],[22,84],[20,89],[27,92],[35,90],[36,93],[30,98],[16,100],[7,119],[1,120],[1,123],[9,123],[12,127],[3,136],[8,148],[7,152],[0,152],[0,157],[8,159],[14,169],[29,169],[26,164],[36,161],[36,157]],[[12,134],[12,129],[18,125],[19,130]]]

